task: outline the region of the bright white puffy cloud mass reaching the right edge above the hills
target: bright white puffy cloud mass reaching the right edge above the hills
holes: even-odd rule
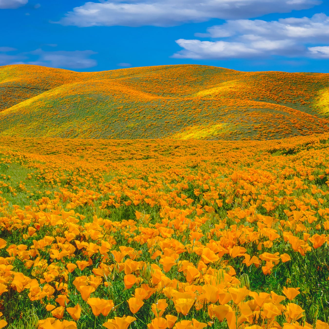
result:
[[[228,20],[195,36],[221,40],[176,40],[183,49],[172,57],[228,59],[280,55],[329,58],[329,46],[323,46],[329,44],[329,16],[323,13],[311,18],[291,17],[269,22]],[[317,45],[310,47],[309,44]]]

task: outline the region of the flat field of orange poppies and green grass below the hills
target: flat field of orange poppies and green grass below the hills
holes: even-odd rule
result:
[[[328,194],[329,133],[0,137],[0,328],[328,329]]]

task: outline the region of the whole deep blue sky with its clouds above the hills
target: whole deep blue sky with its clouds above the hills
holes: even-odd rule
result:
[[[0,65],[329,72],[329,1],[0,0]]]

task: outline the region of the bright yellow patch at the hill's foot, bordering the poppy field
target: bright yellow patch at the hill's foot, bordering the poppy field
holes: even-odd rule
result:
[[[198,125],[186,128],[180,131],[170,138],[173,139],[206,139],[216,137],[222,133],[228,132],[230,130],[227,123],[217,123],[213,125]]]

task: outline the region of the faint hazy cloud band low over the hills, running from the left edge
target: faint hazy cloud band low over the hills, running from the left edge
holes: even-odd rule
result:
[[[6,52],[13,51],[14,48],[0,47],[0,65],[10,64],[32,64],[58,68],[89,68],[97,65],[97,61],[89,58],[97,54],[92,50],[75,51],[44,51],[36,49],[34,51],[10,55]]]

